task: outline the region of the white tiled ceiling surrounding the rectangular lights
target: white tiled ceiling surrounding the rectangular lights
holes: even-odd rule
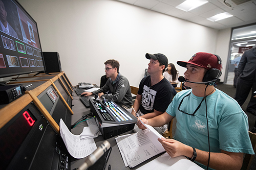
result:
[[[230,27],[239,27],[256,22],[256,0],[246,5],[230,8],[224,5],[223,0],[208,0],[209,2],[199,8],[185,12],[175,8],[185,0],[116,0],[128,4],[133,4],[142,8],[147,8],[152,11],[165,13],[180,19],[185,19],[200,25],[214,28],[225,29]],[[219,13],[228,12],[233,17],[211,22],[206,18]]]

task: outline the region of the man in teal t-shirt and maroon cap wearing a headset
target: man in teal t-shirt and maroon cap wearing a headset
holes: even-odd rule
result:
[[[174,139],[158,139],[172,158],[186,156],[204,169],[208,159],[209,169],[241,169],[243,153],[254,154],[248,117],[234,99],[214,87],[221,76],[220,57],[197,53],[187,62],[177,64],[186,67],[185,85],[191,89],[177,93],[166,112],[150,119],[141,118],[142,122],[159,127],[176,117]],[[207,81],[207,85],[191,83]],[[145,129],[139,119],[137,125]]]

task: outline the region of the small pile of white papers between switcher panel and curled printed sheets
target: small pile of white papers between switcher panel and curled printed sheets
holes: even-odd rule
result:
[[[80,134],[81,139],[89,139],[98,137],[101,135],[98,126],[95,122],[95,117],[87,120],[88,127],[84,127],[82,133]]]

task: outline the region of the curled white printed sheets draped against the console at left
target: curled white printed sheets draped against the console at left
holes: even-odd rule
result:
[[[80,159],[93,153],[97,147],[94,139],[80,139],[80,135],[72,134],[66,124],[60,119],[60,136],[63,139],[69,153],[74,158]]]

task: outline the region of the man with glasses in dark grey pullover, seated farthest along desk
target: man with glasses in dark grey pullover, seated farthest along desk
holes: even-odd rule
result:
[[[131,108],[133,104],[132,92],[129,81],[119,72],[119,62],[117,60],[106,60],[105,73],[109,77],[106,84],[93,92],[83,92],[81,95],[98,94],[101,99],[109,99],[116,102],[120,106]],[[109,94],[103,92],[110,91]]]

